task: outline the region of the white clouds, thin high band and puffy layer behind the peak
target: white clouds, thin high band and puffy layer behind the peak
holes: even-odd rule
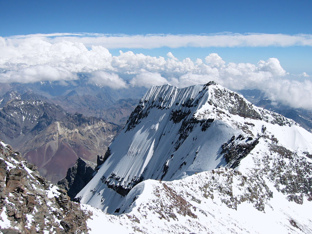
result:
[[[215,43],[215,46],[312,45],[311,35],[16,36],[0,38],[0,82],[74,80],[78,79],[78,73],[89,74],[91,82],[114,89],[127,87],[126,82],[120,78],[124,75],[130,77],[132,85],[147,88],[166,83],[186,87],[215,80],[232,90],[260,89],[273,100],[312,110],[312,82],[309,75],[298,75],[301,79],[306,78],[303,82],[290,79],[290,75],[281,67],[278,59],[260,60],[257,64],[237,64],[225,62],[214,53],[208,55],[204,61],[193,61],[189,58],[180,61],[171,52],[168,52],[167,58],[135,54],[131,51],[120,51],[120,55],[112,56],[109,50],[101,45],[104,43],[103,38],[111,41],[108,42],[108,47],[112,48],[110,43],[127,44],[128,39],[132,37],[136,37],[133,41],[143,44],[146,42],[146,48],[149,48],[149,43],[152,42],[156,43],[154,46],[175,43],[171,44],[171,47],[207,46],[212,43]],[[166,39],[168,41],[165,41]],[[132,39],[130,44],[134,43],[131,41]],[[127,46],[131,47],[130,44]]]

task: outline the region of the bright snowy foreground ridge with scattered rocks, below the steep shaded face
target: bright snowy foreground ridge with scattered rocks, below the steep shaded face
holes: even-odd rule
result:
[[[104,224],[125,234],[312,233],[312,160],[272,149],[267,139],[259,143],[241,160],[244,173],[219,168],[171,182],[145,180],[125,196],[118,216],[82,205],[93,211],[90,233]]]

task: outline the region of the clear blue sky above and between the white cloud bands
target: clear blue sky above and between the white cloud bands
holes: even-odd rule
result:
[[[1,37],[56,32],[127,35],[312,32],[311,0],[2,0],[0,7],[1,22],[5,22],[0,27]],[[165,56],[170,50],[135,49],[137,53],[152,56]],[[113,55],[119,53],[119,49],[110,51]],[[254,63],[274,57],[290,73],[312,74],[311,46],[182,47],[173,53],[178,59],[203,59],[209,53],[218,53],[227,62]]]

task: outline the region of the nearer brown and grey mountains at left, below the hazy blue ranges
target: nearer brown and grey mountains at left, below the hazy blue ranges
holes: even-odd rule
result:
[[[46,101],[15,99],[0,109],[0,137],[54,183],[66,176],[78,157],[96,161],[121,129]]]

